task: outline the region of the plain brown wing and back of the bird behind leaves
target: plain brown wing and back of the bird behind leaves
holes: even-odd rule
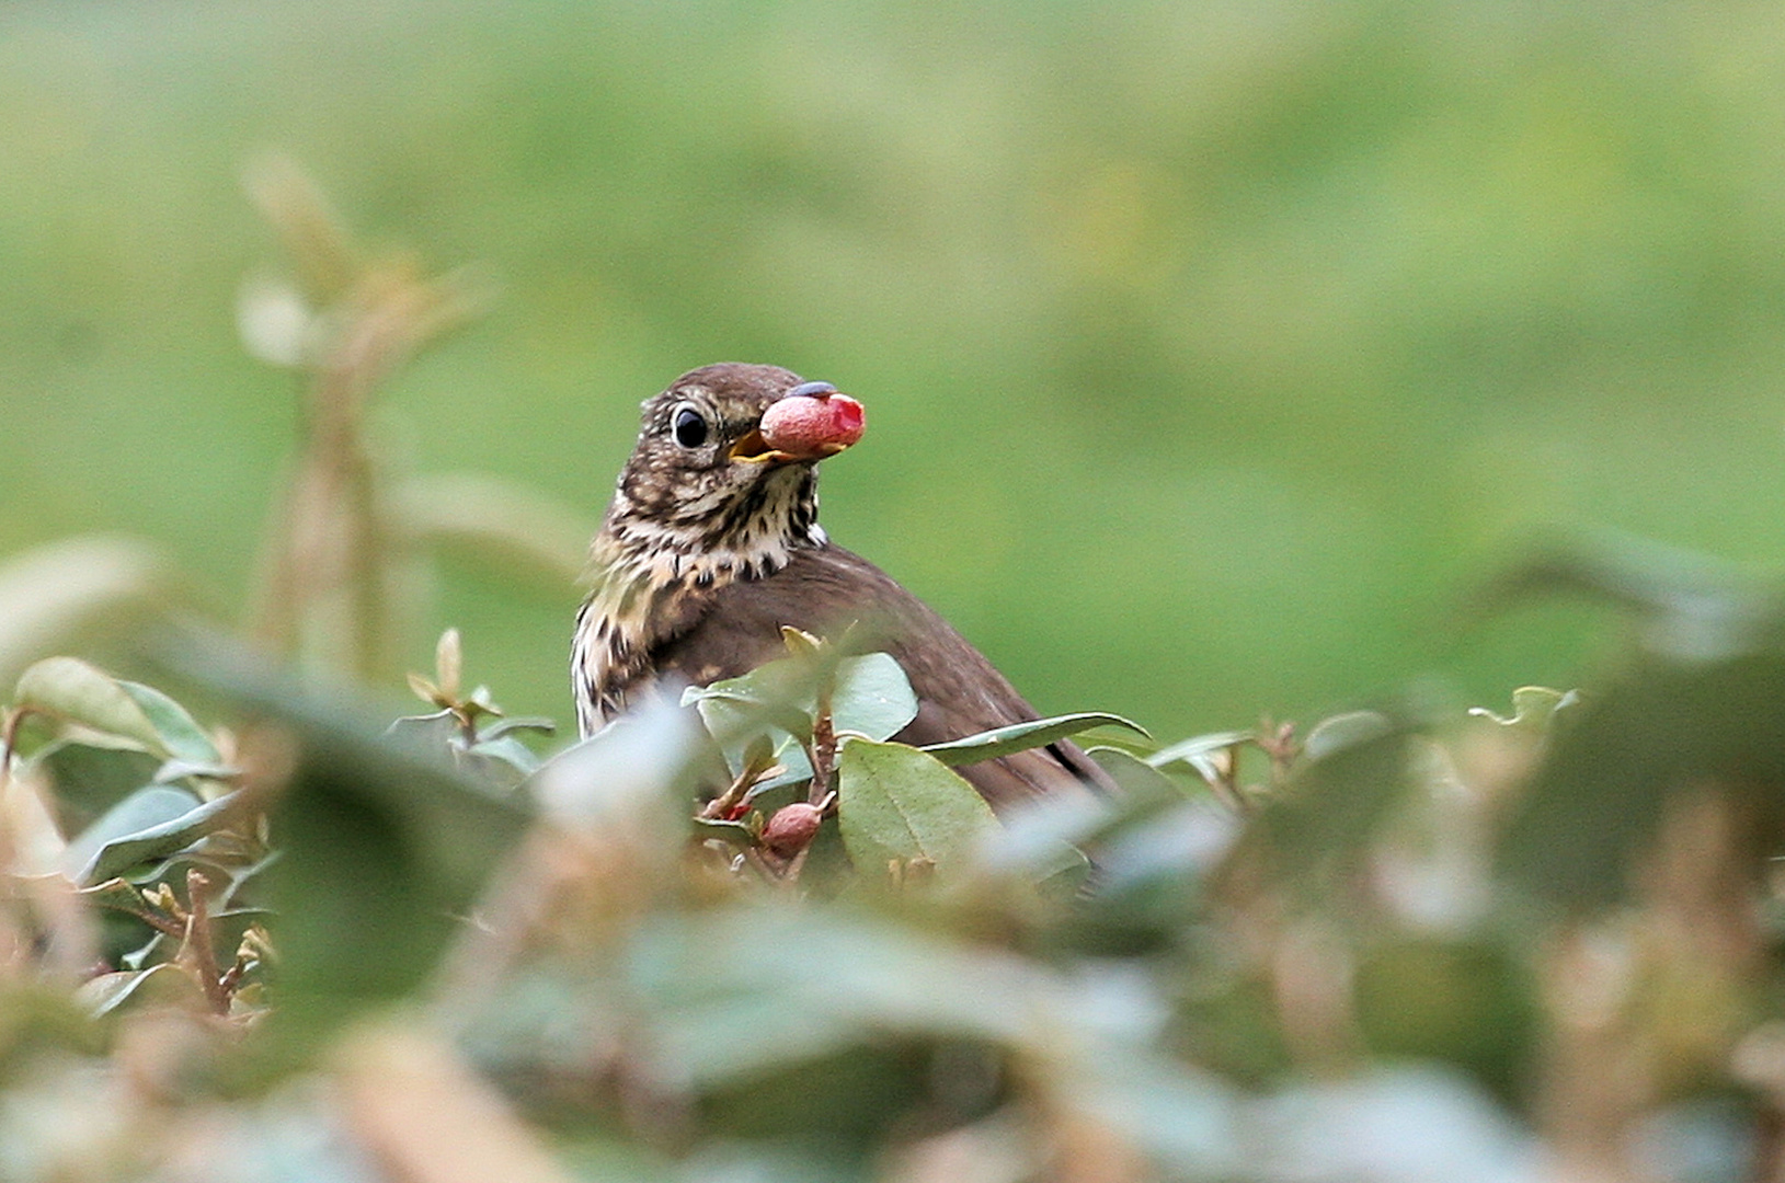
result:
[[[760,580],[716,589],[702,619],[653,655],[660,674],[705,685],[780,657],[784,625],[837,635],[859,621],[884,639],[917,694],[917,717],[894,735],[934,744],[1035,719],[1009,680],[948,621],[880,567],[841,546],[801,548]],[[1041,794],[1110,790],[1108,778],[1075,744],[1057,742],[960,769],[996,807]]]

